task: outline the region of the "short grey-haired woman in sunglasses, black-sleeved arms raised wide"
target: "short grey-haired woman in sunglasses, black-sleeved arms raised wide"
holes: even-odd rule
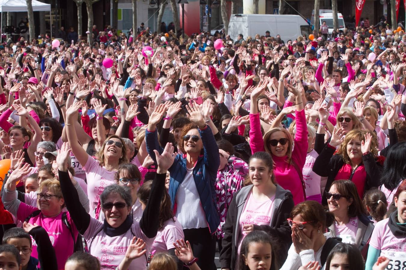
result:
[[[74,189],[67,172],[67,160],[71,149],[64,143],[58,151],[56,163],[58,164],[59,181],[62,194],[65,196],[66,207],[71,214],[73,222],[88,243],[89,252],[97,257],[103,269],[114,269],[123,259],[125,251],[132,244],[134,236],[142,239],[149,250],[153,238],[158,232],[158,215],[162,194],[165,190],[166,171],[172,165],[176,153],[173,146],[168,143],[162,155],[155,151],[158,163],[157,174],[152,183],[151,193],[143,217],[140,222],[134,221],[131,215],[132,198],[130,190],[117,184],[109,185],[100,196],[104,222],[91,217],[78,203],[78,193]],[[129,269],[146,270],[147,257],[134,259]]]

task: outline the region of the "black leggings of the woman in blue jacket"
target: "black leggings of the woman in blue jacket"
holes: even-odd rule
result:
[[[209,228],[184,229],[185,241],[190,242],[194,257],[199,258],[197,265],[202,270],[215,270],[216,234],[211,235]],[[185,269],[189,269],[184,267]]]

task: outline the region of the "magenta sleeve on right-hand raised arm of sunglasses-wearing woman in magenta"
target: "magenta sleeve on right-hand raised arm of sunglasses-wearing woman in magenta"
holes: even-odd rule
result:
[[[292,151],[292,159],[296,162],[299,168],[303,168],[306,162],[307,155],[307,123],[304,110],[296,111],[296,134],[295,134],[295,147]]]

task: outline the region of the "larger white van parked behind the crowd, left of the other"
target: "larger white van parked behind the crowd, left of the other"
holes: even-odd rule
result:
[[[311,34],[311,26],[299,15],[233,14],[230,17],[228,34],[234,42],[238,34],[244,39],[248,36],[255,38],[256,34],[264,36],[267,30],[273,37],[281,35],[285,42]]]

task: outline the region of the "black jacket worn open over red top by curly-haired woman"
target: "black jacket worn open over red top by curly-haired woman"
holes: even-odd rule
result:
[[[320,155],[316,158],[313,165],[313,172],[322,177],[325,176],[328,177],[325,190],[330,189],[330,186],[333,183],[335,176],[337,175],[339,170],[345,165],[343,156],[339,154],[333,155],[334,152],[335,149],[326,145],[324,149],[321,151]],[[362,163],[365,166],[365,172],[367,173],[367,179],[365,181],[364,190],[368,190],[371,187],[380,186],[382,184],[380,183],[382,165],[376,162],[374,156],[371,153],[362,156]],[[324,196],[322,203],[327,204],[327,200],[326,198],[324,198]]]

